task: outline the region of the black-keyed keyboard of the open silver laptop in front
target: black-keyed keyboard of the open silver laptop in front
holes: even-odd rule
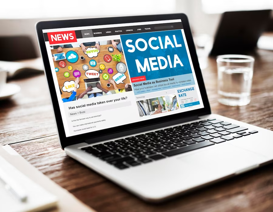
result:
[[[258,133],[217,119],[207,119],[126,137],[81,150],[125,169]]]

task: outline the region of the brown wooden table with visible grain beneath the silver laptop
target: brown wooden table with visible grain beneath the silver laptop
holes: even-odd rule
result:
[[[202,72],[211,109],[273,130],[273,51],[258,50],[255,60],[251,103],[230,107],[217,102],[216,62],[209,58],[209,67]],[[11,101],[0,102],[0,143],[10,144],[42,173],[99,212],[273,210],[273,164],[164,204],[145,203],[66,156],[57,139],[49,93],[39,86],[46,86],[44,75],[12,83],[20,85],[22,91]]]

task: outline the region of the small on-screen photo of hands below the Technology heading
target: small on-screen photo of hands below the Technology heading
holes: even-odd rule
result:
[[[136,104],[140,117],[175,111],[179,108],[175,94],[137,101]]]

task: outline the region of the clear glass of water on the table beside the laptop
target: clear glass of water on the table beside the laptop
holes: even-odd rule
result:
[[[254,58],[247,55],[217,57],[218,101],[231,106],[250,102]]]

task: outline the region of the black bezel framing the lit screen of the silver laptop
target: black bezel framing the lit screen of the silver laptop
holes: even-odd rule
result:
[[[83,27],[83,26],[95,26],[95,25],[106,25],[106,24],[107,25],[123,24],[123,23],[149,22],[149,21],[174,20],[174,19],[181,19],[186,40],[187,40],[187,44],[188,44],[188,48],[190,51],[190,56],[194,66],[197,82],[200,88],[204,108],[172,114],[172,115],[159,117],[159,118],[153,118],[150,120],[135,122],[132,124],[126,124],[126,125],[117,126],[113,128],[107,128],[107,129],[99,130],[95,132],[89,132],[89,133],[84,133],[80,135],[66,137],[56,90],[49,89],[51,99],[52,99],[52,104],[53,104],[53,110],[54,110],[54,114],[56,118],[59,141],[62,148],[73,145],[73,144],[82,143],[86,139],[90,140],[92,138],[99,137],[101,135],[114,134],[117,132],[128,131],[134,128],[153,125],[154,123],[163,123],[166,121],[177,120],[177,119],[190,117],[190,116],[201,116],[201,115],[211,114],[211,109],[210,109],[209,101],[207,98],[207,92],[205,89],[204,80],[203,80],[201,69],[199,66],[199,62],[198,62],[198,58],[197,58],[197,54],[196,54],[196,50],[194,46],[194,41],[190,31],[190,25],[189,25],[187,16],[185,14],[143,15],[143,16],[127,16],[127,17],[114,17],[114,18],[88,18],[88,19],[75,19],[75,20],[44,21],[44,22],[39,22],[36,24],[37,36],[38,36],[40,50],[41,50],[41,54],[42,54],[42,58],[44,62],[44,67],[45,67],[45,75],[48,81],[49,88],[55,88],[52,71],[49,64],[49,57],[47,55],[44,36],[42,32],[43,29]]]

